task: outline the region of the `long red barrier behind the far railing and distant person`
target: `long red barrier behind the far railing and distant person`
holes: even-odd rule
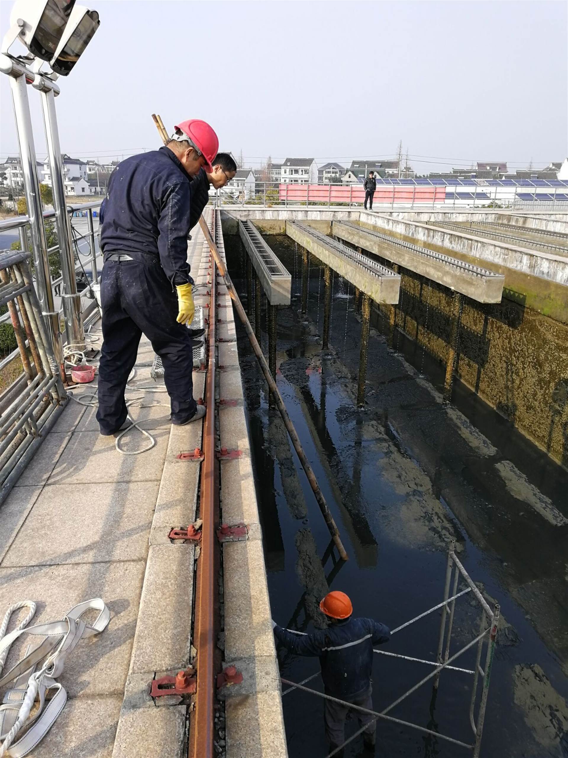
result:
[[[373,202],[445,202],[445,196],[444,186],[379,185]],[[279,199],[281,202],[326,202],[329,205],[359,203],[365,200],[365,190],[360,184],[280,184]]]

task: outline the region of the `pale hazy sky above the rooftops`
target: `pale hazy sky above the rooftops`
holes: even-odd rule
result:
[[[477,160],[514,171],[568,153],[563,0],[92,2],[101,26],[59,80],[61,147],[73,156],[155,149],[152,112],[168,130],[209,121],[253,168],[267,155],[392,158],[399,140],[420,173]],[[11,5],[0,2],[2,35]],[[17,137],[0,80],[5,158]]]

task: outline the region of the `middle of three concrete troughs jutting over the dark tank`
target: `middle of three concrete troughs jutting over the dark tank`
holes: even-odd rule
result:
[[[286,221],[286,234],[375,302],[398,302],[401,277],[390,268],[307,224]]]

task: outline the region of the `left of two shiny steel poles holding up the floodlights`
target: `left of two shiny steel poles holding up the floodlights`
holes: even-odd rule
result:
[[[13,66],[14,74],[15,66]],[[61,347],[61,328],[59,314],[55,312],[45,227],[43,225],[42,203],[39,196],[39,179],[36,165],[36,149],[33,144],[30,103],[27,98],[25,74],[11,75],[10,89],[14,114],[16,117],[17,140],[22,158],[23,184],[26,193],[27,215],[30,217],[30,235],[32,239],[33,266],[36,271],[36,286],[39,308],[45,320],[49,344],[53,349],[55,361],[59,367],[61,378],[64,378],[63,349]]]

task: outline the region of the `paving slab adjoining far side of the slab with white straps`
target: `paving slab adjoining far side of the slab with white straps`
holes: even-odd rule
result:
[[[158,482],[44,487],[2,565],[145,559],[157,495]]]

